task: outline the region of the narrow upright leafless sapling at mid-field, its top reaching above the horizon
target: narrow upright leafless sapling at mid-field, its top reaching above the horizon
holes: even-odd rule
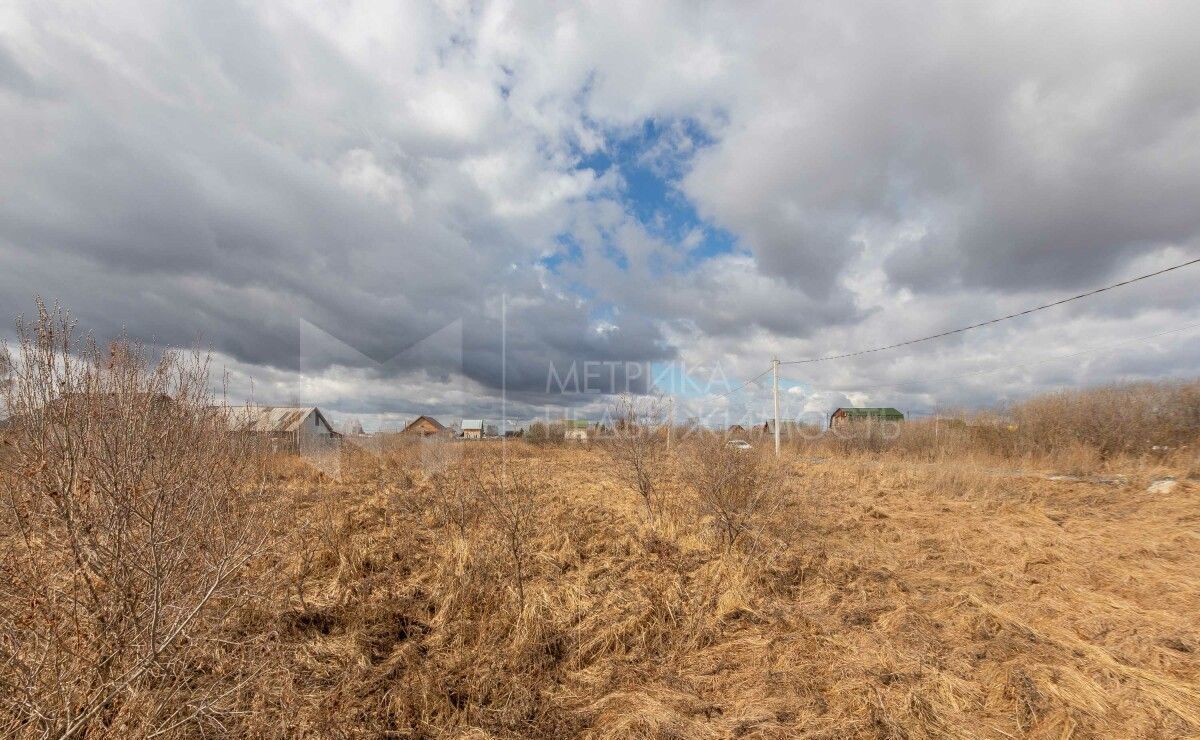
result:
[[[667,462],[666,408],[659,395],[619,396],[611,413],[613,434],[605,441],[618,474],[642,497],[650,518],[655,516],[659,483]]]

